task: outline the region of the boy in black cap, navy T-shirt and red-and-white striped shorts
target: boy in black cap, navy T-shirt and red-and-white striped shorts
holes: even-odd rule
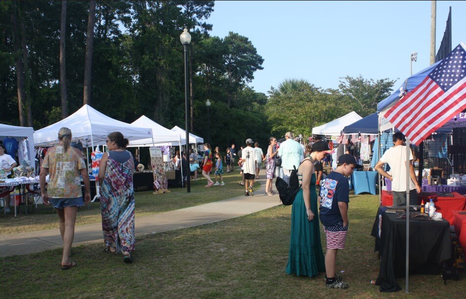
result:
[[[347,177],[354,168],[362,168],[352,155],[338,158],[337,168],[320,182],[319,218],[327,239],[325,252],[325,287],[347,289],[348,284],[335,274],[337,251],[344,249],[348,233],[349,183]]]

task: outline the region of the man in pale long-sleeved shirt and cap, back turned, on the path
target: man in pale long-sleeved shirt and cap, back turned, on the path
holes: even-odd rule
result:
[[[290,184],[291,171],[299,166],[299,163],[304,159],[304,152],[301,144],[294,141],[294,135],[292,132],[285,134],[285,141],[280,144],[278,149],[278,156],[282,158],[283,167],[283,180]]]

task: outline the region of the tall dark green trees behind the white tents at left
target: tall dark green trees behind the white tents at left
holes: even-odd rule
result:
[[[83,82],[89,1],[68,0],[65,20],[66,82],[60,80],[58,0],[0,1],[0,118],[20,125],[19,109],[31,107],[34,129],[62,118],[61,84],[66,85],[68,111],[83,105]],[[132,122],[146,115],[161,125],[184,128],[184,60],[179,36],[192,35],[194,132],[206,138],[205,101],[211,106],[211,136],[226,147],[246,138],[266,140],[270,134],[264,105],[267,96],[247,86],[264,59],[240,33],[209,35],[214,1],[97,0],[91,76],[91,105],[116,119]],[[25,55],[15,46],[12,17]],[[20,29],[24,27],[25,30]],[[28,62],[25,102],[18,101],[17,60]],[[25,65],[26,66],[26,65]],[[25,106],[25,107],[19,107]],[[63,106],[63,107],[66,107]],[[25,114],[26,115],[26,114]]]

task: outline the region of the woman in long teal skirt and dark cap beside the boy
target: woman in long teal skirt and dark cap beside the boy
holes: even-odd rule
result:
[[[306,147],[306,152],[310,151],[310,146]],[[322,160],[325,155],[325,152],[315,151],[298,167],[299,183],[302,186],[296,193],[292,207],[287,274],[312,277],[317,276],[319,272],[325,272],[314,172],[314,161]]]

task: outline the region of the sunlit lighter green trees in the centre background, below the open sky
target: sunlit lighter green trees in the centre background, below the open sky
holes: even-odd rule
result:
[[[312,128],[355,111],[365,117],[377,110],[377,103],[390,95],[395,80],[346,76],[339,90],[322,89],[303,79],[285,79],[271,88],[266,114],[272,134],[293,131],[311,136]]]

